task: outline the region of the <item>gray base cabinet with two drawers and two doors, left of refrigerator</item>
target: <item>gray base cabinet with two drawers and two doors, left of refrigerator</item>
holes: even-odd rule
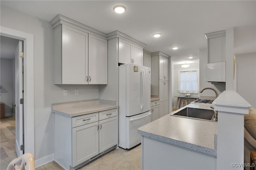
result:
[[[77,117],[55,113],[55,161],[77,169],[118,145],[118,110]]]

